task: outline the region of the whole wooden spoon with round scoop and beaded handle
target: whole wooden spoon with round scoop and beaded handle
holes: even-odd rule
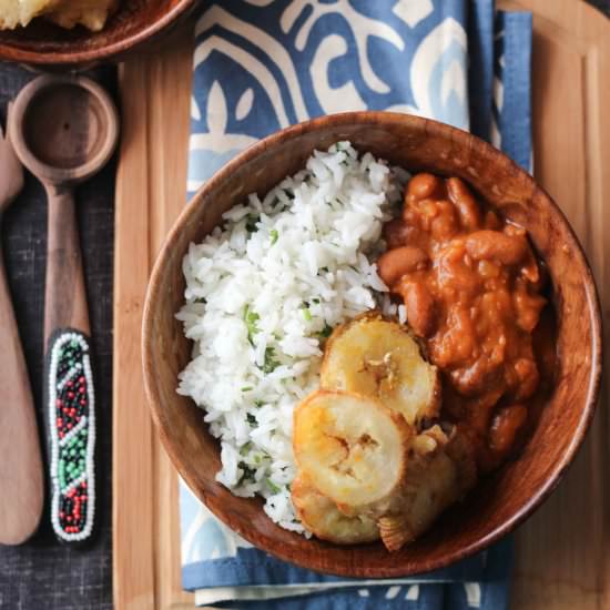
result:
[[[10,121],[14,150],[49,200],[44,292],[45,419],[51,522],[63,542],[82,543],[95,510],[95,409],[87,293],[72,189],[110,159],[116,109],[83,77],[44,75],[18,95]]]

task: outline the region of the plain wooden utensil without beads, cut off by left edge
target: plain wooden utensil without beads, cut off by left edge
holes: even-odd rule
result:
[[[0,172],[1,217],[23,186],[21,163],[1,132]],[[44,489],[34,401],[1,250],[0,345],[0,545],[20,545],[40,522]]]

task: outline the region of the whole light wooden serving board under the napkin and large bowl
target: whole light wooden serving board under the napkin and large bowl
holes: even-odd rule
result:
[[[581,0],[500,0],[499,6],[535,16],[535,174],[587,250],[603,302],[608,345],[610,21]],[[149,273],[185,200],[192,40],[185,27],[154,53],[133,55],[120,71],[123,140],[116,179],[113,388],[118,609],[194,603],[180,582],[176,475],[152,429],[140,352]],[[607,384],[575,465],[517,531],[515,609],[610,608]]]

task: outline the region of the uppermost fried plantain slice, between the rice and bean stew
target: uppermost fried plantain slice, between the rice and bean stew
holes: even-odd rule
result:
[[[400,413],[408,424],[435,418],[440,409],[436,366],[424,359],[404,326],[378,313],[335,328],[326,345],[321,385],[375,397]]]

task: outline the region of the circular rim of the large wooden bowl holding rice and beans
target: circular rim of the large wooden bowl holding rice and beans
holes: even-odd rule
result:
[[[148,342],[146,337],[152,336],[152,326],[153,326],[153,314],[152,314],[152,303],[159,297],[159,293],[163,289],[163,286],[160,282],[162,270],[167,260],[169,252],[174,247],[175,242],[182,231],[182,227],[187,224],[191,216],[195,214],[195,209],[201,205],[201,201],[206,197],[210,192],[213,192],[218,184],[224,182],[232,173],[234,173],[242,164],[251,161],[256,157],[258,154],[264,153],[268,148],[285,142],[287,140],[297,139],[304,133],[315,132],[318,128],[328,126],[340,126],[344,124],[362,124],[372,126],[379,123],[385,124],[385,126],[390,126],[392,124],[405,124],[411,123],[414,126],[419,125],[420,129],[424,129],[427,133],[437,135],[444,139],[453,140],[454,138],[464,139],[467,138],[470,140],[470,144],[477,143],[478,146],[484,149],[484,154],[492,156],[498,162],[502,163],[505,167],[510,169],[511,173],[519,173],[521,179],[531,187],[532,193],[539,193],[542,199],[546,200],[546,205],[549,205],[553,212],[560,217],[561,222],[566,225],[568,231],[568,236],[571,238],[569,246],[573,248],[576,254],[580,254],[582,267],[583,267],[583,288],[587,295],[587,301],[589,303],[589,313],[591,317],[591,334],[592,334],[592,344],[591,344],[591,364],[590,370],[591,376],[589,379],[589,386],[587,388],[586,403],[581,413],[579,415],[578,425],[573,431],[573,436],[570,440],[570,444],[567,450],[563,453],[560,460],[558,460],[551,470],[551,475],[543,481],[543,484],[536,490],[536,492],[523,504],[523,506],[518,510],[512,518],[507,519],[502,523],[498,525],[490,532],[485,536],[478,537],[476,540],[459,547],[456,550],[441,555],[437,559],[428,559],[425,567],[421,569],[403,569],[399,567],[383,567],[375,568],[373,573],[370,567],[364,566],[338,566],[335,565],[333,569],[316,559],[314,562],[302,561],[299,557],[291,555],[287,550],[283,549],[279,545],[273,549],[263,548],[256,543],[250,537],[247,530],[240,531],[234,529],[244,537],[246,540],[256,546],[256,548],[263,548],[266,552],[283,559],[285,561],[297,565],[302,568],[317,570],[324,573],[334,573],[337,576],[345,577],[366,577],[366,578],[387,578],[387,577],[406,577],[413,576],[416,573],[421,573],[423,571],[430,571],[436,569],[441,569],[455,561],[470,557],[486,548],[488,548],[494,542],[500,540],[506,535],[510,533],[517,526],[522,523],[527,518],[529,518],[550,496],[550,494],[557,488],[561,479],[563,478],[567,469],[572,464],[573,458],[582,441],[584,440],[587,430],[593,418],[596,407],[599,399],[600,386],[601,386],[601,374],[602,374],[602,318],[601,318],[601,306],[599,294],[597,291],[596,282],[589,261],[584,254],[584,251],[576,236],[576,233],[568,222],[563,212],[550,197],[550,195],[538,185],[533,177],[527,173],[523,169],[517,165],[510,157],[505,153],[494,148],[491,144],[480,140],[479,138],[472,135],[469,132],[454,128],[451,125],[434,121],[430,119],[424,119],[413,114],[397,113],[397,112],[385,112],[385,111],[352,111],[352,112],[342,112],[336,114],[329,114],[325,116],[319,116],[302,123],[297,123],[279,130],[277,132],[267,135],[257,143],[248,146],[225,165],[223,165],[218,171],[214,173],[195,193],[193,199],[185,204],[184,210],[179,215],[177,220],[174,222],[171,231],[165,237],[161,250],[156,256],[153,271],[149,281],[149,286],[146,289],[146,297],[144,303],[144,312],[142,318],[142,363],[144,372],[144,389],[149,407],[151,409],[151,415],[154,421],[155,429],[161,437],[163,446],[167,451],[174,467],[180,472],[181,477],[189,485],[194,495],[207,506],[206,498],[204,494],[201,494],[197,489],[197,486],[194,482],[194,477],[191,474],[191,469],[186,462],[183,462],[176,450],[174,450],[173,444],[170,439],[170,431],[164,425],[162,417],[162,404],[159,398],[159,388],[157,388],[157,378],[154,374],[153,364],[152,364],[152,344],[153,342]],[[214,515],[224,522],[223,516],[215,510],[214,507],[209,509],[214,512]]]

